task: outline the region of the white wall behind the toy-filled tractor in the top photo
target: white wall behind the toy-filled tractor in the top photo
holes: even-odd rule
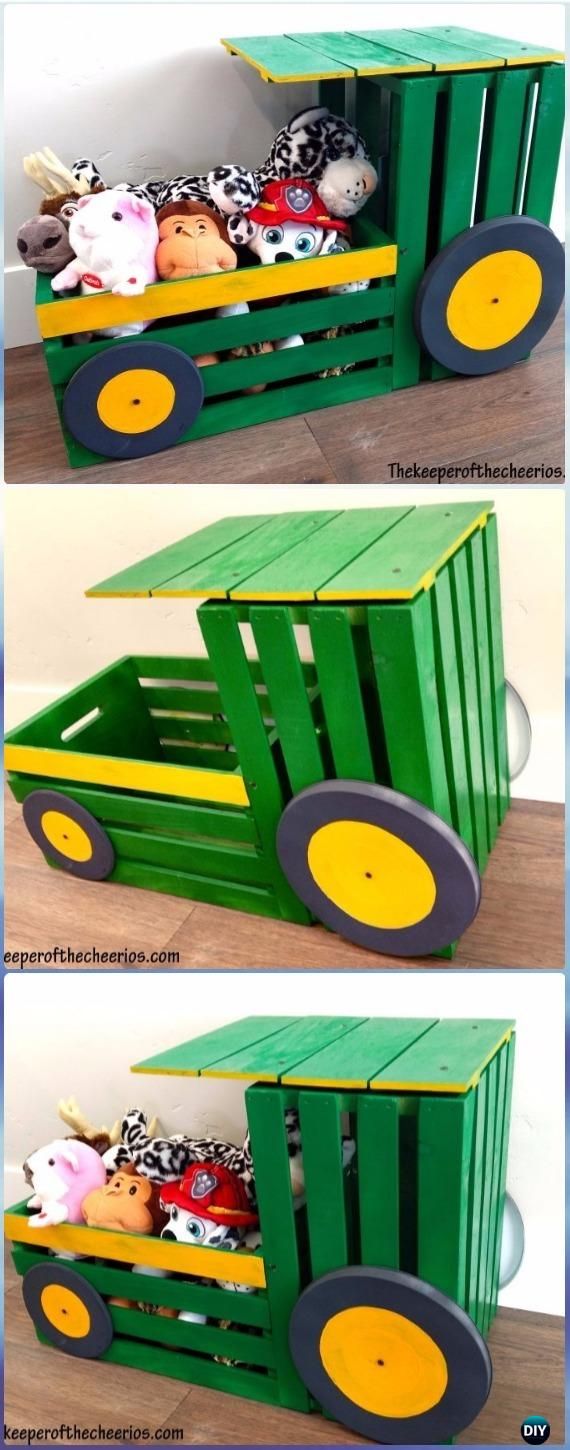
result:
[[[71,20],[73,14],[73,20]],[[6,7],[6,342],[38,339],[33,277],[16,232],[39,191],[22,157],[94,157],[110,183],[258,165],[276,130],[315,99],[267,86],[220,36],[461,25],[561,49],[561,4],[9,4]],[[561,171],[553,226],[564,235]]]

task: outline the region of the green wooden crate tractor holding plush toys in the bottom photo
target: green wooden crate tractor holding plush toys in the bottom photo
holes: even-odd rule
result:
[[[325,1411],[377,1443],[453,1440],[492,1382],[486,1337],[497,1305],[512,1027],[245,1018],[138,1063],[138,1073],[252,1083],[245,1105],[261,1247],[229,1254],[100,1228],[38,1230],[19,1204],[6,1214],[6,1234],[38,1338],[264,1404]],[[297,1199],[290,1108],[303,1153]],[[87,1257],[70,1266],[65,1251]],[[107,1305],[109,1295],[132,1299],[132,1264],[168,1270],[167,1279],[136,1280],[146,1308],[194,1311],[209,1322]],[[205,1283],[186,1282],[189,1273]],[[210,1286],[225,1276],[255,1292]],[[234,1327],[219,1327],[220,1318]]]

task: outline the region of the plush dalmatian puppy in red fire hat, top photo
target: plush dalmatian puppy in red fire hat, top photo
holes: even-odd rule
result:
[[[335,246],[338,235],[350,233],[348,222],[329,216],[313,183],[300,177],[270,181],[257,206],[231,218],[228,229],[234,242],[249,246],[265,265],[318,257]]]

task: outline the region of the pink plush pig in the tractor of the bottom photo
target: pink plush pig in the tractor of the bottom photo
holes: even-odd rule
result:
[[[70,1138],[55,1138],[45,1148],[38,1148],[26,1159],[23,1172],[33,1188],[28,1208],[39,1208],[39,1214],[29,1219],[32,1228],[83,1224],[84,1198],[107,1180],[100,1154],[87,1143]]]

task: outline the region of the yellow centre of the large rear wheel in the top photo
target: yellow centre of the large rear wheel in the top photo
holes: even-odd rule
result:
[[[534,318],[542,296],[542,273],[528,252],[492,252],[473,262],[455,283],[447,325],[466,348],[500,348]]]

